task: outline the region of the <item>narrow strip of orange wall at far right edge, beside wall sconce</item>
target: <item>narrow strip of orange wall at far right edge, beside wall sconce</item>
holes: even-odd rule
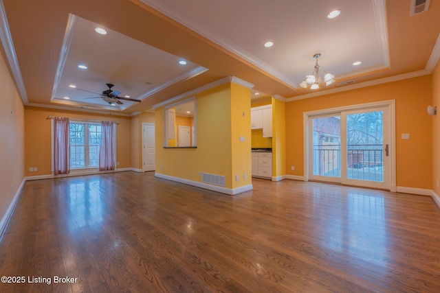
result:
[[[432,73],[432,101],[431,106],[437,106],[437,115],[430,117],[432,124],[432,190],[437,196],[440,196],[440,187],[437,186],[437,180],[440,185],[440,64]]]

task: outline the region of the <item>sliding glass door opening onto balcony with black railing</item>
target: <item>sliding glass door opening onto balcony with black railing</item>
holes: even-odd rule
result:
[[[390,188],[388,108],[309,117],[309,178]]]

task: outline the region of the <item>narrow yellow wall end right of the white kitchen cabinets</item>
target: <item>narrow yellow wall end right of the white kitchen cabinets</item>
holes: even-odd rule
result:
[[[272,97],[272,176],[286,174],[286,107],[285,102]]]

